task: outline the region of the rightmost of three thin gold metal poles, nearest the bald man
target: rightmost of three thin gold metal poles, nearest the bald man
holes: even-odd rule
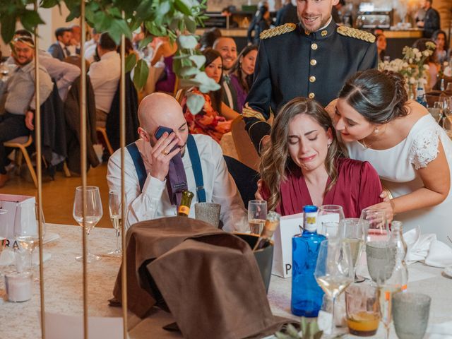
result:
[[[122,13],[124,18],[124,12]],[[122,239],[122,270],[121,270],[121,303],[123,316],[123,336],[127,339],[127,261],[126,261],[126,189],[124,186],[124,151],[126,147],[126,38],[121,35],[121,83],[119,88],[120,109],[120,145],[121,145],[121,239]]]

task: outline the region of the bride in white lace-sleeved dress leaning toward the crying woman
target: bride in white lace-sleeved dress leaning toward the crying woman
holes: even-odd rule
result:
[[[368,161],[393,198],[374,205],[404,230],[452,237],[452,142],[427,109],[408,100],[398,73],[355,74],[327,107],[350,158]]]

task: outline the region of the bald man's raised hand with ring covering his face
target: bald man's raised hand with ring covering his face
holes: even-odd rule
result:
[[[157,140],[153,149],[150,152],[151,169],[150,175],[159,179],[161,182],[165,180],[169,170],[169,161],[181,151],[181,148],[177,147],[170,152],[172,148],[177,145],[179,138],[175,133],[167,132],[163,133],[162,137]]]

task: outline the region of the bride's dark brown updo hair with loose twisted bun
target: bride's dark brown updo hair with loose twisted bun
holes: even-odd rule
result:
[[[339,97],[372,124],[385,124],[408,114],[405,81],[392,71],[358,72],[343,85]]]

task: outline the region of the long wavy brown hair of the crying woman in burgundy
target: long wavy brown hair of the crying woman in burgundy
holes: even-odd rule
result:
[[[281,199],[280,186],[287,179],[287,173],[297,167],[290,157],[289,124],[297,115],[306,114],[322,126],[325,131],[331,130],[333,141],[328,148],[325,159],[326,172],[331,178],[331,183],[326,187],[329,191],[338,179],[338,171],[335,167],[335,159],[340,156],[340,146],[336,138],[333,122],[326,110],[316,101],[305,97],[296,97],[285,104],[273,121],[270,132],[271,146],[267,148],[259,164],[261,179],[270,192],[268,197],[268,210],[278,206]]]

